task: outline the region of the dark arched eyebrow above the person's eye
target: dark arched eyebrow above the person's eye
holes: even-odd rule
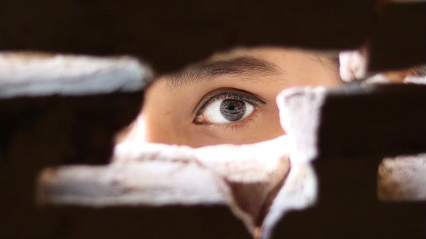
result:
[[[170,86],[197,83],[212,80],[223,75],[240,77],[263,77],[280,74],[280,68],[274,63],[250,56],[241,56],[227,60],[214,60],[191,65],[170,77]]]

